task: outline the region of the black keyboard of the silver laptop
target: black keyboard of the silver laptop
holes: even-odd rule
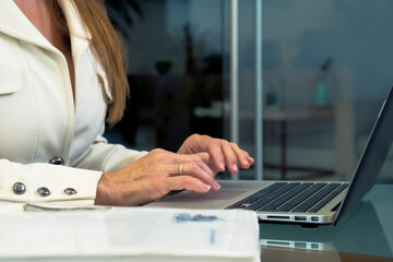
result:
[[[275,182],[227,209],[315,213],[347,187],[334,182]]]

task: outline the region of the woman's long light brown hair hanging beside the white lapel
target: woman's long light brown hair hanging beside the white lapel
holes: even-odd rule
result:
[[[92,35],[90,48],[106,74],[112,97],[106,121],[114,126],[121,120],[129,95],[124,49],[109,21],[104,0],[73,0],[72,3],[79,12],[83,26]],[[59,12],[60,5],[57,9]],[[59,21],[62,27],[67,28],[66,21]]]

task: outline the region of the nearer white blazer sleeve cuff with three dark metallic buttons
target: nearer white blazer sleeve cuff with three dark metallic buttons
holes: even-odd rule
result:
[[[102,171],[0,159],[0,200],[15,202],[93,200]]]

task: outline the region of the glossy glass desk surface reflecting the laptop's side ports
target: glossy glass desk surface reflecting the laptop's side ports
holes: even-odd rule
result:
[[[393,261],[393,184],[377,184],[337,226],[260,224],[262,261]]]

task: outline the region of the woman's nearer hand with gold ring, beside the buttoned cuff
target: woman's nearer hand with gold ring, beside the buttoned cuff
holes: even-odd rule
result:
[[[103,174],[95,204],[141,205],[171,190],[218,190],[209,160],[209,153],[176,154],[153,150],[119,171]]]

